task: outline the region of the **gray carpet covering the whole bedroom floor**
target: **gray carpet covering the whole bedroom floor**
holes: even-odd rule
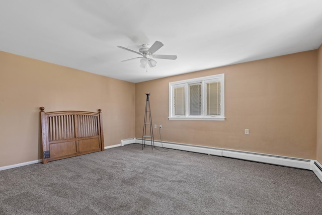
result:
[[[141,147],[0,171],[0,214],[322,214],[311,171]]]

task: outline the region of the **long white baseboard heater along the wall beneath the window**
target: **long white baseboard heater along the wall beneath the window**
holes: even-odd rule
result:
[[[137,144],[142,144],[142,139],[136,138]],[[151,140],[145,140],[145,145],[151,146]],[[161,142],[154,140],[154,146],[161,147]],[[178,144],[176,142],[163,142],[164,148],[183,150],[189,152],[203,153],[208,155],[216,155],[227,158],[236,158],[247,161],[255,161],[266,164],[274,164],[279,166],[294,167],[300,169],[311,170],[310,159],[300,159],[286,156],[252,153],[237,150],[228,150],[221,148],[202,147],[188,144]]]

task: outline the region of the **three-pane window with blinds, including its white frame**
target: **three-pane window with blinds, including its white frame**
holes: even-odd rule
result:
[[[169,83],[170,120],[224,120],[224,74]]]

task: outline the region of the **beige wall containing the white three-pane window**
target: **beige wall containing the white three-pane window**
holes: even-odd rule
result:
[[[152,70],[150,71],[152,72]],[[169,82],[225,74],[225,121],[168,120]],[[306,51],[136,84],[135,136],[145,98],[162,140],[315,159],[317,51]],[[245,135],[245,128],[250,135]],[[159,139],[154,129],[155,139]]]

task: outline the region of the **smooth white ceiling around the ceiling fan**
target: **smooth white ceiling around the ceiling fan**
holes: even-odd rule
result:
[[[140,45],[164,43],[146,72]],[[133,83],[312,50],[321,0],[1,0],[0,50]],[[45,71],[44,71],[45,72]]]

